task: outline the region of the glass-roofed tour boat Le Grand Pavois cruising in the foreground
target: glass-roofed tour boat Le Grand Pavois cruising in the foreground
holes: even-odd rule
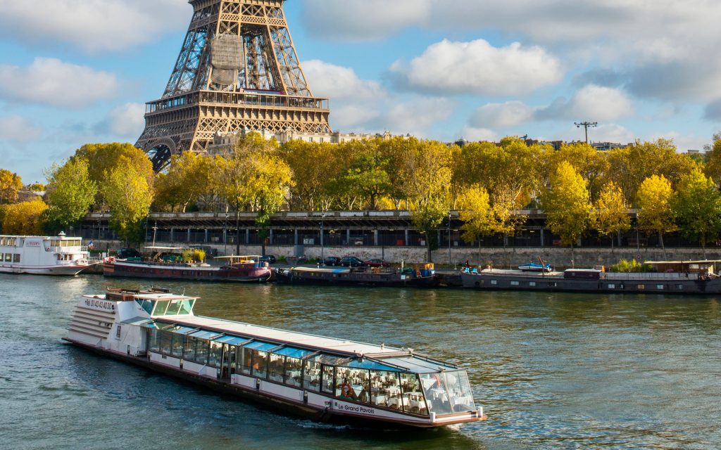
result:
[[[323,422],[435,428],[485,419],[455,364],[411,348],[197,316],[197,301],[164,289],[86,295],[64,339]]]

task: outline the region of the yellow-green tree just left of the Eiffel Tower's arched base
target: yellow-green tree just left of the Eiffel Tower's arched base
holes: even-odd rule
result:
[[[110,207],[110,226],[126,243],[139,241],[154,195],[145,174],[134,161],[122,157],[104,178],[100,191]]]

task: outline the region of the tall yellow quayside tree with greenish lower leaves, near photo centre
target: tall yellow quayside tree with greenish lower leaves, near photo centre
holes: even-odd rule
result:
[[[413,225],[426,235],[428,261],[438,248],[436,231],[450,211],[451,153],[447,145],[415,140],[406,154],[402,182]]]

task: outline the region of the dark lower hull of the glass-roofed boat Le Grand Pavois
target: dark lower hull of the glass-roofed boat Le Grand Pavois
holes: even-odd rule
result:
[[[312,405],[308,405],[305,402],[293,401],[288,398],[270,395],[266,392],[261,392],[260,390],[251,389],[249,387],[240,386],[238,384],[231,384],[231,382],[229,381],[213,379],[211,377],[205,377],[199,374],[185,372],[182,370],[182,368],[178,369],[174,366],[156,364],[150,359],[148,359],[148,357],[146,356],[131,356],[115,351],[108,351],[104,348],[90,346],[86,343],[74,341],[70,338],[63,338],[63,340],[73,344],[74,346],[78,346],[100,356],[106,356],[112,359],[116,359],[118,361],[133,364],[136,366],[141,366],[144,369],[181,379],[185,382],[197,384],[224,395],[231,395],[241,400],[252,401],[254,404],[260,403],[261,405],[265,405],[266,407],[272,408],[274,410],[282,410],[286,413],[291,413],[293,415],[297,415],[298,417],[308,418],[317,422],[379,429],[430,429],[446,425],[443,423],[414,422],[411,420],[388,420],[387,418],[375,419],[372,417],[368,417],[367,415],[356,415],[352,412],[333,410],[330,406],[328,406],[327,408],[317,408]],[[333,400],[333,397],[327,397],[328,405],[331,405],[331,402]],[[485,418],[485,416],[482,416],[468,418],[467,420],[453,420],[453,422],[448,423],[448,425],[478,422],[480,420],[485,420]]]

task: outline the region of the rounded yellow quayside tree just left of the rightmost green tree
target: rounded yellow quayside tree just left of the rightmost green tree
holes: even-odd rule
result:
[[[672,199],[671,181],[663,175],[653,175],[645,179],[636,195],[636,204],[640,208],[638,228],[646,233],[658,234],[664,255],[666,248],[663,244],[663,233],[676,230]]]

